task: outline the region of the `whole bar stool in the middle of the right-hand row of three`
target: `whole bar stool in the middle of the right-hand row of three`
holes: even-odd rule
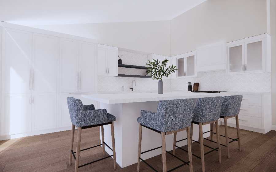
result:
[[[206,98],[199,98],[197,100],[196,106],[194,108],[194,116],[192,119],[192,125],[191,125],[191,136],[192,141],[197,142],[200,144],[200,151],[201,151],[201,157],[196,156],[197,158],[201,159],[201,166],[202,166],[202,172],[205,171],[205,161],[204,161],[204,155],[209,154],[212,151],[218,151],[219,155],[219,163],[221,163],[221,151],[220,151],[220,140],[219,140],[219,131],[218,131],[218,119],[220,116],[220,110],[223,102],[223,97],[206,97]],[[203,131],[202,131],[202,125],[210,124],[210,123],[216,123],[216,129],[217,129],[217,148],[211,148],[203,143]],[[193,140],[193,124],[199,125],[199,139],[198,141]],[[208,131],[210,132],[210,131]],[[207,132],[205,132],[207,133]],[[209,139],[207,139],[209,140]],[[204,146],[211,148],[212,150],[209,152],[204,153]],[[217,150],[218,149],[218,150]]]

